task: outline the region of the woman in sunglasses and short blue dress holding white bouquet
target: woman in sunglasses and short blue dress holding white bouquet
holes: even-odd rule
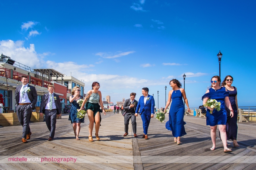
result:
[[[230,116],[234,116],[234,111],[232,110],[231,104],[228,99],[228,92],[226,92],[226,89],[224,87],[220,87],[220,77],[219,76],[213,76],[211,79],[212,86],[210,89],[206,91],[206,94],[202,97],[203,105],[206,104],[208,99],[216,99],[218,102],[220,102],[220,111],[217,111],[216,109],[212,109],[210,107],[207,107],[206,112],[206,125],[210,125],[211,128],[211,138],[212,138],[212,147],[210,150],[216,149],[216,130],[217,125],[219,126],[219,132],[220,136],[222,138],[222,143],[224,147],[224,152],[232,152],[231,149],[227,147],[226,144],[226,107],[230,110]],[[210,114],[210,111],[212,111],[212,114]]]

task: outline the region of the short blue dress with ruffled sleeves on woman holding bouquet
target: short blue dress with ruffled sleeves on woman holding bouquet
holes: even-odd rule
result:
[[[215,99],[220,102],[220,111],[213,109],[212,114],[210,114],[210,110],[207,109],[206,112],[206,125],[215,126],[215,125],[226,125],[226,109],[225,109],[225,97],[228,96],[228,92],[226,92],[224,87],[220,87],[220,89],[215,90],[213,88],[209,89],[209,93],[204,94],[202,100],[208,97],[209,99]]]

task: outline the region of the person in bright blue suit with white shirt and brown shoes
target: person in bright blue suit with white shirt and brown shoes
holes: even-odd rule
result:
[[[150,123],[150,119],[154,118],[154,106],[155,100],[153,96],[148,94],[148,87],[142,88],[142,94],[139,98],[139,102],[135,111],[135,116],[141,115],[144,135],[142,138],[148,139],[148,126]]]

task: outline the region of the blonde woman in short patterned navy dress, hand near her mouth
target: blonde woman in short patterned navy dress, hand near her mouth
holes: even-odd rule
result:
[[[70,108],[70,116],[68,120],[73,124],[73,130],[77,140],[79,140],[78,135],[81,129],[80,124],[84,123],[84,118],[77,118],[77,109],[80,109],[80,106],[77,103],[77,100],[79,99],[83,99],[83,96],[80,95],[80,88],[75,86],[71,91],[70,103],[72,103],[72,106]]]

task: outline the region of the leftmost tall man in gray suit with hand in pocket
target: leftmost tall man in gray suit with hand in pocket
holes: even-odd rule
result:
[[[37,102],[37,91],[34,86],[28,84],[28,77],[21,76],[22,85],[16,87],[15,90],[15,107],[18,120],[22,125],[22,142],[27,142],[32,134],[30,131],[30,118],[32,109],[35,108]]]

